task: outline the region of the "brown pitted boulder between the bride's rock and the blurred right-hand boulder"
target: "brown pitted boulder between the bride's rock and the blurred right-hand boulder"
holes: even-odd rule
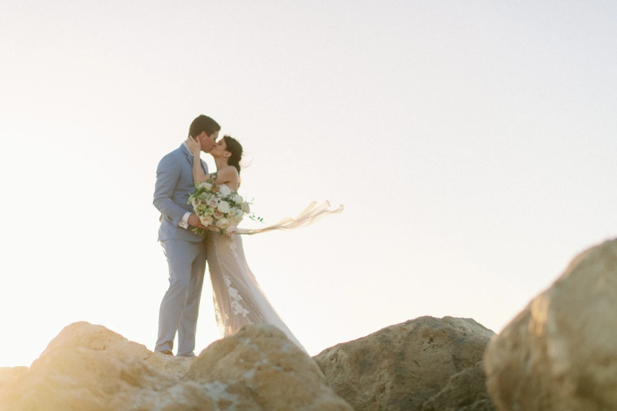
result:
[[[472,319],[420,317],[314,357],[357,411],[420,411],[450,376],[482,359],[494,333]]]

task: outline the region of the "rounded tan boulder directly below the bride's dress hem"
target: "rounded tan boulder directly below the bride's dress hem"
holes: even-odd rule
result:
[[[215,341],[183,380],[218,381],[251,410],[353,411],[328,387],[317,364],[271,325],[244,327]],[[244,402],[234,404],[244,409]]]

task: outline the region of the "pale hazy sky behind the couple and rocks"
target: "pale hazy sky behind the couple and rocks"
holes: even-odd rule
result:
[[[155,169],[199,114],[244,145],[267,223],[346,206],[244,238],[311,354],[421,315],[499,332],[617,233],[616,21],[609,1],[2,0],[0,367],[79,320],[154,348]],[[206,280],[197,351],[217,338]]]

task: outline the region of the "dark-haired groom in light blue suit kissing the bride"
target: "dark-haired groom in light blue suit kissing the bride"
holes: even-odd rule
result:
[[[208,116],[198,116],[189,128],[201,150],[209,153],[221,127]],[[204,173],[207,165],[201,162]],[[194,191],[193,155],[184,144],[159,162],[154,188],[154,206],[161,212],[159,242],[169,266],[169,288],[160,303],[159,336],[154,351],[173,355],[178,332],[178,356],[194,357],[195,331],[205,272],[205,241],[194,234],[202,226],[193,208],[187,205]]]

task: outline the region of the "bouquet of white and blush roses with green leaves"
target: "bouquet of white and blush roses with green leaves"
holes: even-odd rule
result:
[[[263,222],[262,218],[251,213],[251,203],[244,201],[237,191],[232,191],[225,184],[216,184],[216,173],[213,173],[205,182],[195,184],[195,191],[190,195],[188,204],[199,221],[204,226],[213,226],[220,234],[226,234],[230,226],[238,226],[244,216],[255,221]],[[195,227],[195,234],[203,235],[205,230]]]

